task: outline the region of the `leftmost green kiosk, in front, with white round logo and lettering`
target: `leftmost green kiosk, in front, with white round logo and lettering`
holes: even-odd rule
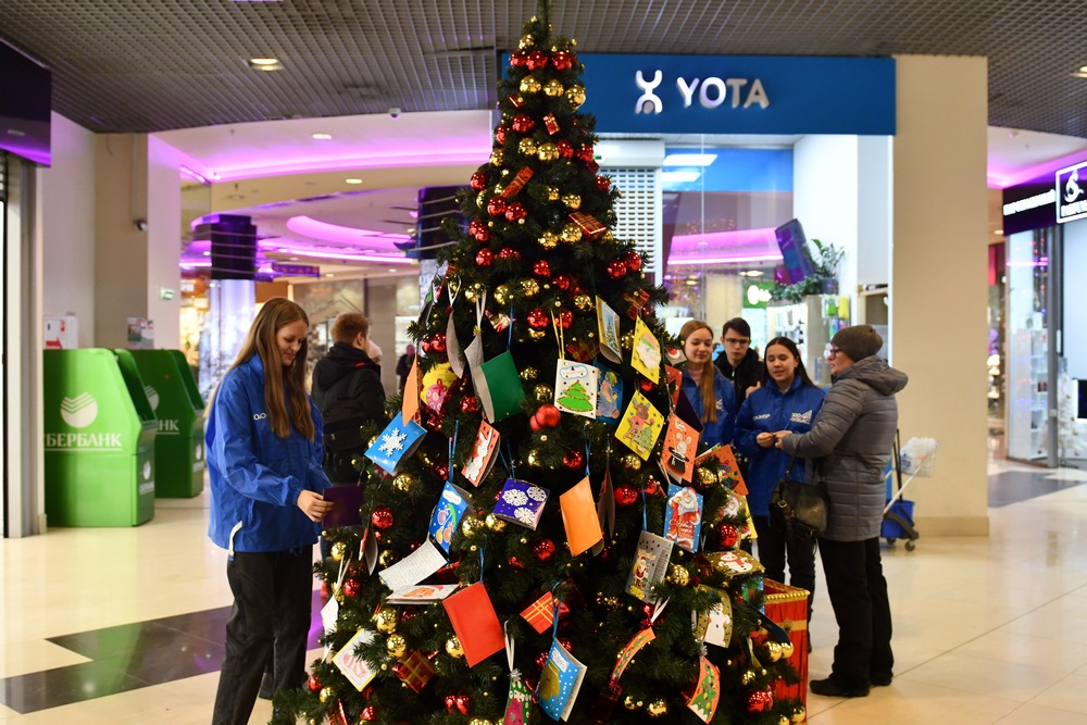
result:
[[[158,424],[132,353],[92,348],[42,354],[49,524],[150,521]]]

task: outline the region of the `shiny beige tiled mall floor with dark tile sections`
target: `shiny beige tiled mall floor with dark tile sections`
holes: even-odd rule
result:
[[[894,684],[810,695],[812,722],[1087,724],[1087,471],[989,474],[988,538],[927,538],[919,511],[916,549],[885,549]],[[205,521],[198,497],[139,528],[0,540],[0,724],[208,723],[230,593]],[[822,590],[811,632],[821,677]],[[250,722],[270,715],[259,701]]]

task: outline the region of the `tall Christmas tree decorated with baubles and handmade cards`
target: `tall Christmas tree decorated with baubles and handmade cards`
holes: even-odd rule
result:
[[[653,315],[667,293],[613,238],[620,191],[547,11],[499,84],[402,408],[366,434],[365,526],[327,532],[326,657],[273,722],[804,717],[772,695],[798,675],[737,550],[734,478],[704,443],[687,479],[660,465],[684,426],[676,341]]]

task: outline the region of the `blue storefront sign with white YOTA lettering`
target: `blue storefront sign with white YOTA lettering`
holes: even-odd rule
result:
[[[895,134],[889,58],[578,54],[605,134]]]

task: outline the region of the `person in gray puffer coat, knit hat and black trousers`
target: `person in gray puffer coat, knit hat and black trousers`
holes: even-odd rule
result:
[[[808,459],[808,479],[822,478],[830,498],[819,549],[838,643],[830,675],[811,682],[812,692],[827,697],[864,697],[872,685],[890,685],[895,664],[879,529],[898,428],[895,393],[907,376],[876,357],[880,348],[869,325],[839,330],[830,340],[833,385],[811,430],[782,432],[777,443]]]

